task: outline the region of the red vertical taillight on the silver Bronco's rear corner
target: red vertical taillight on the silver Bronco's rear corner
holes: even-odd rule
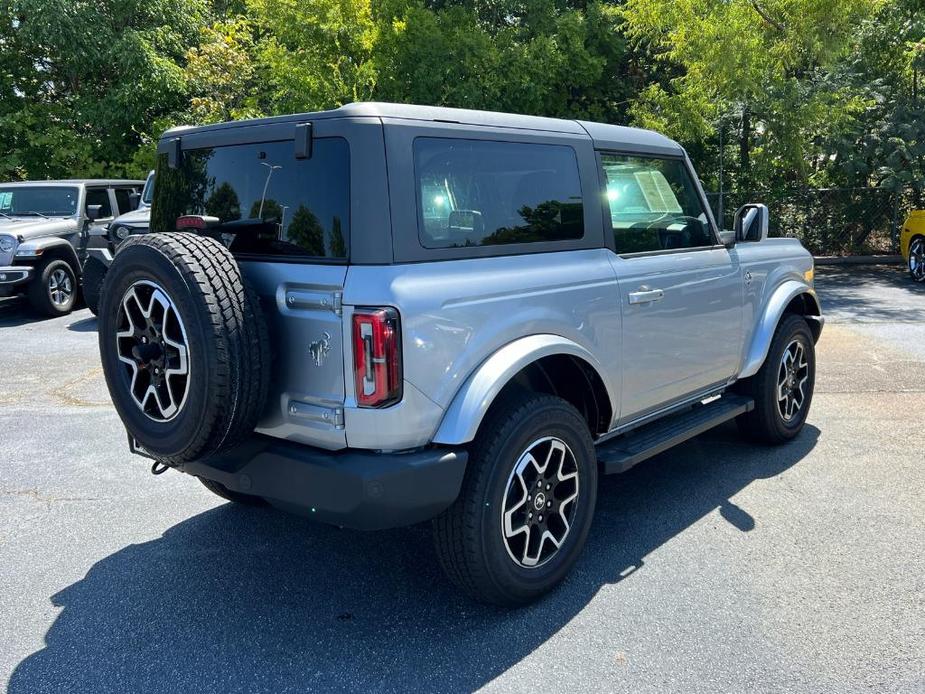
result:
[[[394,308],[353,312],[353,373],[360,407],[401,400],[401,331]]]

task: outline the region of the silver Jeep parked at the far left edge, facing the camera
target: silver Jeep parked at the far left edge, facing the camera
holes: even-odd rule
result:
[[[134,204],[142,181],[0,184],[0,296],[25,294],[48,316],[71,312],[103,225]]]

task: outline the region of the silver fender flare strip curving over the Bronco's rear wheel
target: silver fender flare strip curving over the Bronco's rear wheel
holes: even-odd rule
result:
[[[561,335],[530,335],[501,347],[470,374],[453,396],[433,442],[460,445],[472,441],[488,408],[514,376],[538,359],[560,354],[587,362],[601,376],[611,405],[614,404],[615,391],[602,376],[605,371],[591,352]]]

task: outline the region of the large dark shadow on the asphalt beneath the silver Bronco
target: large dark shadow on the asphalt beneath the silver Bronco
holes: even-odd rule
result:
[[[473,690],[705,515],[719,509],[752,531],[756,519],[731,498],[798,463],[818,436],[807,426],[762,448],[727,426],[604,479],[576,570],[520,610],[457,595],[427,526],[360,533],[226,504],[53,595],[63,611],[9,691]]]

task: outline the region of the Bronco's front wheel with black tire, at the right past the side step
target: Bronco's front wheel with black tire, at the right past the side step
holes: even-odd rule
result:
[[[768,356],[736,390],[755,399],[755,409],[736,418],[747,438],[769,444],[790,441],[803,429],[813,399],[816,351],[806,319],[785,314],[777,325]]]

